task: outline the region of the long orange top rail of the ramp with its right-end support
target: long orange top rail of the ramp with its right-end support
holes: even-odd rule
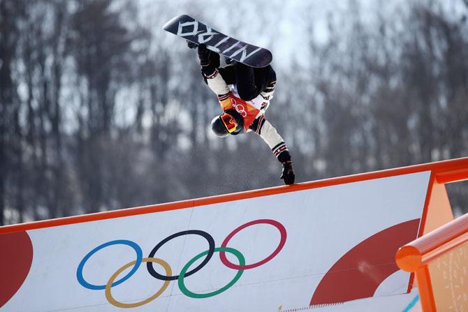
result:
[[[430,171],[431,177],[429,188],[427,190],[427,198],[425,201],[425,213],[423,216],[423,221],[421,222],[421,229],[419,231],[421,236],[453,220],[453,215],[451,212],[450,203],[448,202],[448,196],[444,184],[468,179],[468,157],[456,158],[448,161],[437,161],[434,163],[424,163],[421,165],[410,165],[407,167],[380,170],[375,172],[351,174],[344,177],[322,179],[318,181],[292,184],[289,186],[276,186],[255,191],[245,191],[240,193],[217,195],[208,198],[198,198],[195,200],[182,200],[180,202],[170,202],[144,207],[119,209],[114,211],[103,211],[94,214],[84,214],[81,216],[69,216],[45,221],[34,221],[30,223],[5,225],[0,227],[0,234],[39,228],[49,228],[52,226],[68,225],[81,222],[105,220],[108,218],[135,216],[138,214],[148,214],[158,211],[184,209],[187,207],[216,204],[218,202],[257,198],[266,195],[289,193],[307,190],[310,188],[322,188],[326,186],[335,186],[339,184],[347,184],[357,181],[367,181],[371,179],[380,179],[385,177],[395,177],[397,175],[412,174],[415,172],[424,171]],[[437,207],[437,209],[435,207]]]

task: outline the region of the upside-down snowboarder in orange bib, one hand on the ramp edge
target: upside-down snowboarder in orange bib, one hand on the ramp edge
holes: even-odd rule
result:
[[[197,47],[190,42],[188,45]],[[220,57],[204,44],[198,45],[198,58],[205,82],[217,94],[223,110],[212,120],[212,131],[221,138],[243,132],[260,135],[283,165],[280,179],[284,179],[285,184],[293,184],[295,177],[288,147],[265,119],[265,110],[270,105],[276,84],[272,66],[252,68]],[[229,64],[229,61],[233,64]]]

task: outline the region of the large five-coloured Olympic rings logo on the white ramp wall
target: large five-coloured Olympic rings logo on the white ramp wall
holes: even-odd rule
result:
[[[240,230],[243,230],[244,228],[247,228],[247,227],[249,227],[251,225],[256,225],[256,224],[273,225],[275,228],[277,228],[277,230],[279,230],[281,238],[279,240],[279,244],[278,244],[277,248],[275,249],[275,251],[273,251],[270,255],[268,255],[267,258],[265,258],[263,260],[260,260],[258,262],[246,265],[244,255],[242,255],[242,253],[240,251],[237,251],[234,248],[228,247],[228,243],[231,241],[233,236],[237,234],[237,232],[240,232]],[[183,236],[183,235],[199,235],[199,236],[201,236],[201,237],[203,237],[203,238],[205,238],[207,240],[209,248],[208,248],[207,251],[203,251],[202,253],[199,253],[198,255],[193,257],[191,260],[189,260],[189,262],[187,262],[187,264],[184,265],[184,267],[182,268],[179,275],[173,276],[172,275],[173,274],[172,269],[170,268],[170,265],[168,264],[168,262],[166,262],[166,261],[164,261],[164,260],[162,260],[160,258],[154,258],[154,255],[156,255],[156,252],[159,250],[159,248],[161,248],[161,246],[163,246],[163,244],[166,244],[171,239],[174,239],[176,237],[180,237],[180,236]],[[89,251],[89,253],[87,253],[87,255],[85,255],[85,257],[82,258],[82,260],[80,262],[80,265],[78,265],[78,269],[76,270],[76,278],[78,279],[78,282],[80,283],[80,285],[82,285],[85,288],[88,288],[90,290],[105,290],[105,297],[106,297],[106,299],[108,299],[108,302],[110,304],[114,305],[114,306],[119,307],[119,308],[135,308],[137,306],[142,306],[144,304],[147,304],[147,303],[151,302],[152,300],[156,299],[157,297],[159,297],[166,290],[166,288],[168,288],[168,285],[169,285],[170,281],[175,281],[175,280],[177,280],[177,284],[179,285],[180,291],[184,295],[186,295],[187,297],[191,297],[191,298],[213,297],[213,296],[219,295],[221,292],[224,292],[224,291],[228,290],[229,288],[231,288],[231,286],[233,286],[239,280],[239,278],[242,276],[242,273],[244,272],[244,270],[254,269],[255,267],[259,267],[261,265],[264,265],[266,262],[268,262],[268,261],[272,260],[273,258],[275,258],[275,256],[279,253],[279,251],[281,251],[281,249],[283,248],[285,243],[286,243],[286,228],[284,228],[284,225],[282,225],[278,221],[270,220],[270,219],[258,219],[258,220],[254,220],[254,221],[250,221],[248,223],[245,223],[244,225],[240,225],[240,227],[233,230],[233,232],[231,232],[224,239],[224,241],[221,243],[221,247],[217,247],[217,248],[214,247],[213,237],[210,234],[208,234],[207,232],[204,232],[202,230],[186,230],[186,231],[182,231],[182,232],[177,232],[177,233],[175,233],[173,235],[170,235],[170,236],[166,237],[161,242],[156,244],[156,246],[154,246],[154,248],[149,253],[147,258],[143,258],[142,249],[135,242],[131,242],[129,240],[124,240],[124,239],[118,239],[118,240],[115,240],[115,241],[107,242],[105,244],[101,244],[101,245],[97,246],[96,248],[94,248],[92,251]],[[136,260],[133,260],[133,261],[127,263],[126,265],[122,266],[120,269],[118,269],[117,272],[115,272],[114,274],[112,274],[112,276],[110,276],[108,282],[105,283],[105,285],[93,285],[91,283],[88,283],[85,280],[85,278],[83,277],[83,267],[85,267],[86,262],[89,260],[89,258],[92,257],[92,255],[94,255],[95,253],[97,253],[101,249],[106,248],[108,246],[112,246],[112,245],[130,246],[136,252]],[[208,292],[208,293],[204,293],[204,294],[198,294],[196,292],[191,292],[185,286],[184,279],[187,278],[188,276],[191,276],[192,274],[195,274],[200,269],[205,267],[205,265],[207,264],[208,261],[210,261],[210,259],[212,258],[214,253],[219,253],[219,258],[221,259],[221,262],[226,267],[229,267],[231,269],[236,269],[237,274],[234,276],[232,281],[230,281],[227,285],[220,288],[219,290],[214,290],[213,292]],[[239,263],[235,264],[235,263],[230,262],[228,260],[228,258],[226,258],[226,253],[231,253],[231,254],[235,255],[235,258],[237,258]],[[193,265],[193,263],[195,263],[197,260],[199,260],[199,259],[201,259],[203,257],[205,257],[205,259],[197,267],[195,267],[195,268],[193,268],[193,269],[191,269],[189,271],[189,269]],[[151,297],[149,297],[149,298],[147,298],[145,300],[142,300],[140,302],[135,302],[135,303],[131,303],[131,304],[124,303],[124,302],[118,302],[112,296],[111,288],[114,287],[114,286],[117,286],[117,285],[119,285],[121,283],[124,283],[124,281],[126,281],[133,274],[135,274],[136,271],[138,270],[138,268],[140,267],[140,265],[142,264],[142,262],[146,262],[146,267],[147,267],[147,271],[149,272],[149,274],[151,274],[154,278],[157,278],[157,279],[159,279],[161,281],[164,281],[163,285],[161,286],[161,288],[154,295],[152,295]],[[159,266],[161,266],[163,268],[165,275],[159,274],[158,272],[156,272],[156,270],[153,267],[154,263],[158,264]],[[129,267],[132,267],[132,269],[125,276],[123,276],[122,278],[120,278],[119,280],[116,281],[117,277],[120,274],[122,274],[122,272],[124,272]]]

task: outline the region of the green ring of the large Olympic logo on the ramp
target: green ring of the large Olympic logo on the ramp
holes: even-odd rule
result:
[[[218,247],[218,248],[214,248],[214,252],[219,252],[219,251],[224,251],[226,253],[232,253],[233,255],[235,255],[237,257],[237,259],[239,260],[239,265],[245,265],[245,259],[244,259],[244,256],[242,255],[242,253],[240,253],[240,251],[237,251],[236,249],[234,248],[229,248],[229,247]],[[200,253],[199,255],[196,255],[192,260],[190,260],[187,265],[185,265],[185,267],[182,269],[182,271],[180,272],[180,275],[179,275],[179,280],[178,280],[178,283],[179,283],[179,288],[180,288],[180,291],[186,295],[187,297],[191,297],[191,298],[207,298],[207,297],[213,297],[213,296],[216,296],[218,294],[220,294],[221,292],[224,292],[224,290],[228,290],[228,288],[231,288],[232,285],[235,284],[235,282],[237,282],[237,280],[240,278],[240,276],[242,276],[242,273],[244,273],[244,270],[243,269],[240,269],[238,270],[237,274],[234,276],[233,280],[231,282],[228,283],[228,285],[224,286],[223,288],[220,288],[219,290],[215,290],[214,292],[208,292],[207,294],[196,294],[195,292],[191,292],[190,290],[187,289],[187,287],[185,287],[184,285],[184,278],[185,278],[185,273],[187,272],[187,270],[189,269],[189,267],[191,265],[193,265],[193,263],[202,258],[203,256],[207,255],[208,252],[210,251],[203,251],[203,253]]]

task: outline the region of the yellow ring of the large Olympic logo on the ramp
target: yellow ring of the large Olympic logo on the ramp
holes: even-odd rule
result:
[[[168,262],[159,259],[159,258],[143,258],[141,262],[156,262],[159,265],[161,265],[165,270],[166,270],[166,276],[171,276],[173,274],[172,270],[170,269],[170,266],[168,265]],[[132,265],[136,264],[136,260],[133,260],[132,262],[127,263],[123,267],[117,270],[117,272],[114,273],[114,275],[110,276],[110,279],[108,283],[105,285],[105,297],[108,299],[108,302],[114,306],[117,306],[119,308],[136,308],[137,306],[142,306],[143,304],[147,304],[148,302],[151,302],[152,300],[156,299],[159,297],[166,288],[168,288],[169,282],[170,281],[165,281],[161,288],[156,292],[156,294],[152,295],[152,297],[149,297],[148,299],[145,299],[140,302],[136,302],[134,304],[124,304],[122,302],[118,302],[117,300],[112,297],[112,294],[110,293],[110,288],[112,286],[112,283],[115,281],[115,278],[119,276],[122,272],[124,272],[124,269],[127,267],[131,267]]]

